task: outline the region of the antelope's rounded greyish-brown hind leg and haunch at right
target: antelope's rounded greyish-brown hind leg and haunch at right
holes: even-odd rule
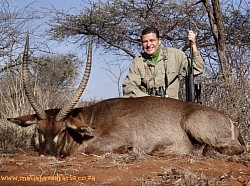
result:
[[[236,155],[245,150],[239,129],[225,115],[211,108],[198,108],[182,120],[186,132],[200,143],[222,154]]]

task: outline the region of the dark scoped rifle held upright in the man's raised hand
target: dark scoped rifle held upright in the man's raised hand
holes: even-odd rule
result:
[[[191,30],[191,23],[189,23]],[[190,41],[190,60],[188,60],[188,74],[186,75],[186,101],[201,103],[201,84],[194,83],[193,49]]]

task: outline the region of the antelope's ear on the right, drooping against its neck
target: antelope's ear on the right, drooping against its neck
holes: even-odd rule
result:
[[[67,127],[88,136],[93,136],[94,128],[88,126],[84,121],[79,119],[68,117],[66,120]]]

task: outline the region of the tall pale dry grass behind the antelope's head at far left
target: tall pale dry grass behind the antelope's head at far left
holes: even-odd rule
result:
[[[20,78],[8,78],[1,85],[0,92],[0,150],[14,152],[17,148],[31,146],[31,137],[34,126],[27,128],[19,127],[9,121],[8,117],[18,117],[33,114],[34,111],[28,102],[22,87]],[[48,92],[42,94],[39,88],[35,88],[35,95],[40,105],[49,108]],[[60,99],[57,96],[58,99]],[[63,100],[63,98],[61,98]]]

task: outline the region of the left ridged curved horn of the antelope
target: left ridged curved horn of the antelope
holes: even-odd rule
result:
[[[22,79],[23,79],[23,87],[26,93],[26,96],[35,110],[39,119],[46,119],[47,115],[42,107],[38,104],[33,94],[33,90],[30,86],[30,77],[29,77],[29,69],[28,69],[28,61],[29,61],[29,33],[26,36],[26,42],[23,52],[23,64],[22,64]]]

